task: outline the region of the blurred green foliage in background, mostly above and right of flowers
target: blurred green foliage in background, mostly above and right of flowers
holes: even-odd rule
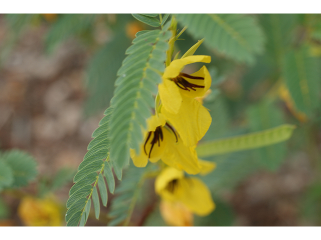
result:
[[[91,115],[102,112],[109,106],[117,70],[125,57],[125,50],[137,31],[161,25],[156,20],[157,15],[133,14],[132,17],[130,14],[58,14],[54,20],[49,21],[40,14],[8,14],[7,20],[15,39],[28,25],[40,24],[39,22],[47,24],[44,41],[48,52],[52,52],[70,37],[82,42],[90,55],[86,67],[88,98],[84,111]],[[217,198],[217,209],[211,215],[197,219],[196,223],[231,225],[233,211],[220,199],[220,191],[235,187],[240,180],[257,170],[278,170],[289,153],[304,151],[312,159],[316,152],[316,158],[320,160],[317,134],[321,130],[321,14],[175,16],[180,29],[188,26],[187,31],[180,36],[184,40],[176,42],[175,53],[180,51],[179,54],[182,55],[197,40],[205,37],[204,44],[196,54],[212,57],[211,63],[207,64],[212,74],[212,93],[204,99],[204,105],[210,110],[213,121],[202,141],[264,130],[284,123],[298,126],[289,142],[207,157],[217,163],[215,171],[203,177]],[[135,18],[147,24],[140,23]],[[102,26],[107,32],[103,41],[95,38],[98,26]],[[8,45],[12,46],[13,41],[9,40]],[[107,132],[107,121],[101,122],[101,132]],[[99,134],[93,136],[98,137]],[[107,151],[103,153],[106,155]],[[313,164],[316,167],[315,174],[321,173],[319,164],[315,161]],[[14,166],[8,162],[0,161],[0,174],[6,175],[4,179],[0,179],[0,188],[20,184],[21,181],[13,177],[11,167],[14,170]],[[111,172],[112,168],[108,169]],[[120,174],[118,172],[117,176]],[[139,179],[141,174],[143,173],[137,173],[135,177]],[[129,178],[130,176],[132,175],[128,174]],[[319,224],[320,218],[316,212],[321,207],[321,181],[318,178],[314,181],[317,187],[307,191],[306,199],[302,200],[302,212]],[[124,193],[126,182],[125,178],[118,190],[116,188],[115,193],[118,192],[119,195],[114,199],[118,203],[130,202],[132,199],[132,192]],[[133,184],[136,181],[128,182]],[[107,183],[109,184],[108,180]],[[54,182],[52,184],[56,188],[61,185]],[[117,202],[112,202],[110,213],[115,218],[109,222],[111,225],[120,224],[125,219],[128,223],[130,220],[124,214],[128,211],[128,205]],[[89,206],[90,204],[91,202]],[[159,220],[157,211],[156,209],[150,214],[145,225],[164,224]]]

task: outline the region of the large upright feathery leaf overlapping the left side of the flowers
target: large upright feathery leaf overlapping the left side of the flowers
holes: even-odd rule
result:
[[[162,81],[166,50],[171,32],[151,30],[140,34],[126,50],[111,100],[110,159],[115,169],[121,170],[129,159],[129,148],[139,152],[141,127],[151,115],[153,94]]]

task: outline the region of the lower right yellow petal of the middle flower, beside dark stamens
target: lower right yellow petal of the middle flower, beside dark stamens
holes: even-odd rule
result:
[[[166,137],[167,147],[162,155],[162,161],[167,165],[175,167],[180,170],[185,170],[189,174],[197,174],[200,172],[196,146],[186,146],[182,139],[176,137],[170,130],[164,130],[164,137]]]

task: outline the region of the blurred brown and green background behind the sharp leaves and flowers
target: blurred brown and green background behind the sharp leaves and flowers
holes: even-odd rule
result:
[[[204,105],[213,121],[203,140],[283,123],[297,128],[287,142],[208,158],[217,168],[203,180],[217,207],[195,217],[195,225],[320,225],[321,16],[251,17],[265,36],[264,53],[253,64],[205,44],[196,51],[212,56],[212,92]],[[73,176],[109,106],[124,52],[144,29],[151,27],[130,14],[0,14],[0,158],[7,165],[8,159],[36,163],[28,165],[29,175],[21,173],[21,184],[15,166],[11,182],[0,179],[0,225],[65,225]],[[188,30],[180,38],[176,52],[182,53],[198,40]],[[290,64],[296,49],[313,60],[306,64],[316,107],[308,112],[298,110],[282,80],[300,72]],[[152,186],[150,180],[143,187],[130,225],[166,225]],[[108,199],[99,220],[92,213],[86,225],[108,224],[113,195]]]

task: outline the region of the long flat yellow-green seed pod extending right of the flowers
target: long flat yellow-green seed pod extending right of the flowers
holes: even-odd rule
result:
[[[294,128],[294,125],[283,124],[264,131],[202,143],[196,150],[199,157],[206,157],[267,146],[287,140]]]

